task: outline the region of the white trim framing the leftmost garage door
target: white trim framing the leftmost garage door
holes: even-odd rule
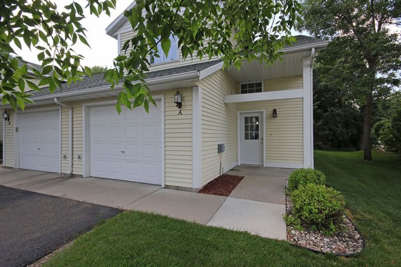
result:
[[[45,111],[55,111],[58,110],[61,112],[61,106],[53,106],[53,107],[45,107],[45,108],[34,108],[34,109],[27,109],[24,111],[18,110],[14,111],[14,169],[19,169],[19,131],[17,133],[16,129],[18,127],[18,130],[20,128],[19,125],[19,115],[20,114],[27,114],[27,113],[35,113],[35,112],[45,112]],[[59,132],[61,133],[61,120],[58,121],[58,129]],[[61,151],[61,134],[59,134],[59,147]],[[3,141],[4,142],[4,141]],[[4,143],[3,143],[4,147]],[[61,172],[61,153],[60,153],[60,172]],[[3,155],[4,157],[4,155]],[[4,163],[4,162],[3,162]]]

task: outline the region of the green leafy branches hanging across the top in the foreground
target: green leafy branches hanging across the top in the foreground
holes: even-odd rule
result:
[[[91,14],[108,13],[114,7],[115,0],[88,0]],[[155,104],[145,82],[149,59],[159,57],[161,50],[169,52],[171,35],[177,37],[184,58],[221,56],[225,67],[238,68],[243,60],[258,58],[272,63],[284,45],[295,41],[291,29],[300,8],[297,0],[137,0],[124,13],[137,35],[125,42],[125,54],[116,57],[113,68],[104,75],[111,89],[116,84],[124,87],[118,96],[117,111],[121,111],[121,104],[130,109],[143,105],[146,111],[149,102]],[[83,56],[71,49],[76,42],[87,44],[85,29],[79,23],[84,17],[83,8],[72,2],[66,9],[68,12],[59,13],[50,0],[0,2],[3,104],[9,102],[16,109],[31,102],[29,94],[14,90],[16,86],[23,88],[25,82],[38,90],[28,81],[27,66],[19,68],[10,58],[10,54],[15,55],[11,44],[22,47],[23,42],[42,50],[38,59],[43,70],[34,72],[42,78],[40,85],[49,84],[50,91],[60,85],[61,79],[71,83],[84,72],[92,75],[90,68],[80,67]],[[42,46],[40,40],[46,45]],[[43,77],[52,70],[52,77]]]

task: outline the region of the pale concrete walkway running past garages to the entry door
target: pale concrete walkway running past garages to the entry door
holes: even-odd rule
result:
[[[0,185],[189,222],[286,239],[285,179],[292,170],[236,167],[245,176],[229,197],[164,189],[157,185],[0,168]]]

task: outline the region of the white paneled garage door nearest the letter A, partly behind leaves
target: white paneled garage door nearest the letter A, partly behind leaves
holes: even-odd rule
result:
[[[161,109],[89,108],[90,175],[161,184]]]

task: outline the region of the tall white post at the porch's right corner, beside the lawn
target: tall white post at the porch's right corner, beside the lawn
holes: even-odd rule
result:
[[[313,168],[313,100],[311,58],[303,59],[303,167]]]

